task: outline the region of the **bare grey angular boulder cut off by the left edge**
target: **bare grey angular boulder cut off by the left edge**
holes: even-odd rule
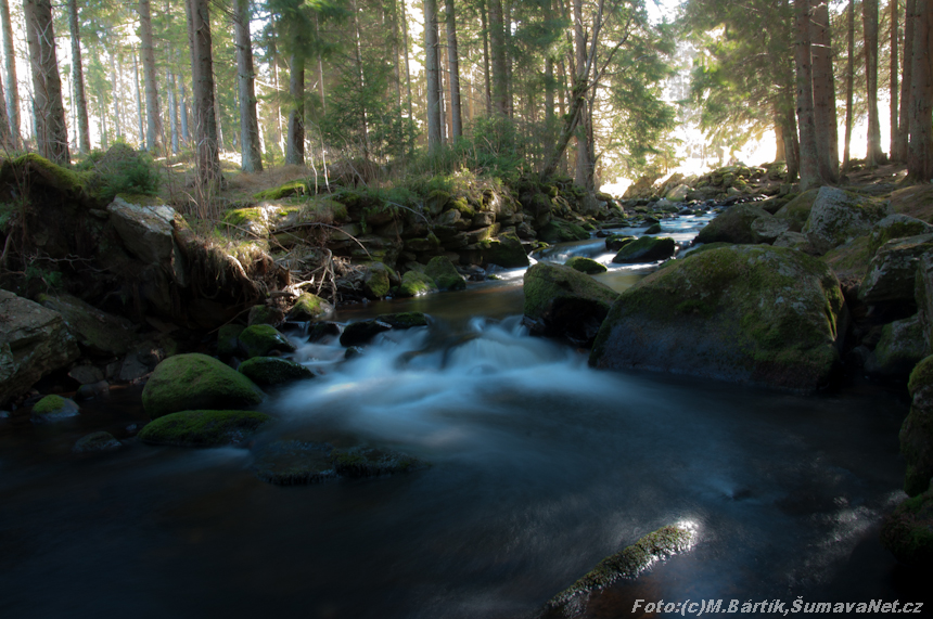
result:
[[[79,356],[62,314],[0,289],[0,404]]]

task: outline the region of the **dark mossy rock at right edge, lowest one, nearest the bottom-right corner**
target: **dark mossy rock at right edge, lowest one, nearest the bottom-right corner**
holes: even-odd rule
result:
[[[907,499],[884,517],[881,544],[903,564],[933,565],[933,490]]]

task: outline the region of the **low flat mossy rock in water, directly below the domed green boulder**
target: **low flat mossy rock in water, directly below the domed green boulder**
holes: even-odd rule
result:
[[[174,447],[237,446],[271,421],[266,413],[254,411],[180,411],[146,424],[139,439]]]

